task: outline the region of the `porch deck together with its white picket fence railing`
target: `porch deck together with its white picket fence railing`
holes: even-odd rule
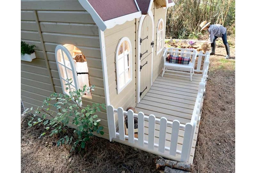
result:
[[[176,55],[179,51],[181,55],[186,54],[177,48],[169,49],[176,50]],[[193,163],[209,58],[209,52],[197,54],[192,81],[185,72],[167,70],[163,77],[159,75],[135,107],[138,114],[109,105],[111,140],[168,159]],[[128,135],[124,130],[124,116],[128,118]],[[138,136],[134,135],[134,117],[138,118]]]

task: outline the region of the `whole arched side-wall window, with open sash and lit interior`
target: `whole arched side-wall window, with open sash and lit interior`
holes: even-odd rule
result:
[[[71,89],[83,89],[84,85],[90,86],[87,61],[76,46],[72,44],[57,45],[55,48],[55,58],[59,71],[61,87],[64,94],[69,94]],[[71,79],[70,85],[67,79]],[[66,88],[69,88],[66,90]],[[92,99],[91,93],[86,93],[83,97]]]

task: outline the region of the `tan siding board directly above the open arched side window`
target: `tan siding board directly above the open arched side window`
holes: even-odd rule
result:
[[[42,32],[44,42],[100,47],[99,36],[72,35]]]

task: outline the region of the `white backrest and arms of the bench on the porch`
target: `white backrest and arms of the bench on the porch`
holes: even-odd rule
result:
[[[190,57],[191,63],[195,64],[196,56],[197,56],[197,51],[195,49],[182,49],[182,48],[166,48],[164,50],[164,62],[166,62],[166,57],[167,54],[175,55],[175,56],[181,56],[181,57]]]

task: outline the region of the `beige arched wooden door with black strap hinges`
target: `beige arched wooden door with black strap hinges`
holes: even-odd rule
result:
[[[151,87],[152,75],[152,32],[153,25],[150,16],[146,16],[142,23],[140,34],[140,99],[142,99]]]

